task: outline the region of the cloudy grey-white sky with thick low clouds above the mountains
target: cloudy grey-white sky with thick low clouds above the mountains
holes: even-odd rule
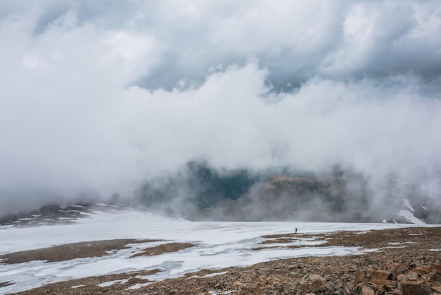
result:
[[[440,191],[438,1],[1,1],[0,214],[194,159]]]

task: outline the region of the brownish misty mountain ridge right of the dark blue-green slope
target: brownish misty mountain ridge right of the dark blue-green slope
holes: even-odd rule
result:
[[[441,205],[423,188],[392,179],[378,192],[359,175],[275,176],[237,199],[208,207],[185,205],[192,220],[441,223]]]

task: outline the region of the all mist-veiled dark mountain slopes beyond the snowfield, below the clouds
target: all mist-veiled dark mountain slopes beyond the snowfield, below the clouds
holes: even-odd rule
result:
[[[190,162],[179,174],[146,181],[134,199],[123,203],[194,221],[441,224],[441,195],[421,183],[393,175],[371,179],[338,167],[322,174],[290,169],[251,173]],[[0,217],[0,223],[68,223],[87,215],[85,208],[48,205]]]

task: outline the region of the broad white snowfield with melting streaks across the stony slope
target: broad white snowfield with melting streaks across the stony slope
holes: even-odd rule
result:
[[[106,275],[134,270],[163,271],[149,279],[178,277],[202,268],[218,269],[229,266],[253,265],[278,258],[307,255],[346,255],[355,253],[356,247],[273,248],[252,251],[261,236],[267,234],[323,233],[339,230],[370,230],[408,227],[409,224],[349,224],[349,223],[292,223],[292,222],[187,222],[159,217],[147,212],[125,211],[90,215],[75,224],[46,227],[0,227],[0,255],[15,251],[104,239],[163,239],[155,243],[137,243],[96,258],[44,263],[32,261],[13,265],[0,264],[0,282],[14,282],[0,288],[0,294],[23,291],[51,282]],[[175,253],[130,258],[140,248],[161,243],[191,242],[197,246]],[[299,243],[299,241],[297,241]]]

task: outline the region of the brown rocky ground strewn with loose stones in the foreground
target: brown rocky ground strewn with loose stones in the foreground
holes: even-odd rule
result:
[[[161,270],[128,272],[47,284],[20,294],[441,294],[441,227],[264,238],[254,251],[318,239],[323,240],[318,246],[354,246],[363,253],[201,270],[160,282],[149,281],[148,275]],[[168,244],[163,250],[188,246],[192,245]],[[159,253],[161,248],[145,255]]]

